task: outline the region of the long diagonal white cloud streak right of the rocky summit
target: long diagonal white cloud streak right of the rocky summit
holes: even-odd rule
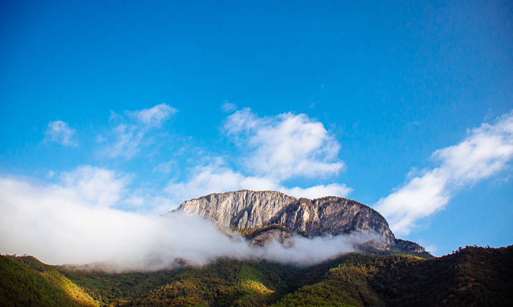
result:
[[[409,234],[416,220],[442,210],[452,192],[506,167],[513,157],[513,112],[494,125],[470,130],[460,144],[436,150],[433,157],[441,161],[440,167],[411,179],[374,204],[395,234]]]

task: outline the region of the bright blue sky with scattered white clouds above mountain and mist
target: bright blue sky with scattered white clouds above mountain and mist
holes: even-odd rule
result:
[[[339,195],[435,255],[512,243],[511,2],[4,1],[0,28],[4,187]]]

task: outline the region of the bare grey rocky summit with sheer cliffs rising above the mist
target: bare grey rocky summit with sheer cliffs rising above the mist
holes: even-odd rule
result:
[[[298,199],[276,191],[241,190],[186,200],[164,215],[177,212],[212,220],[259,245],[272,239],[287,245],[294,235],[312,238],[367,231],[381,237],[370,245],[373,249],[426,253],[417,243],[395,238],[377,211],[344,197]]]

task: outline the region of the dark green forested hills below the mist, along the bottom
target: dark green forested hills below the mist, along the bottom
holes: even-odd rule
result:
[[[0,256],[2,306],[509,306],[513,245],[429,259],[350,253],[311,267],[220,258],[112,273]]]

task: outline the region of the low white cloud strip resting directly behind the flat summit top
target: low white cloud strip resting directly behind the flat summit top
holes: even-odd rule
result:
[[[254,190],[254,191],[280,191],[295,197],[318,198],[323,196],[345,197],[352,192],[345,184],[332,183],[310,188],[286,188],[280,182],[268,177],[244,176],[223,166],[221,158],[214,159],[206,166],[197,166],[191,172],[191,178],[185,182],[171,182],[165,189],[166,193],[177,205],[185,200],[197,198],[211,193],[226,191]]]

